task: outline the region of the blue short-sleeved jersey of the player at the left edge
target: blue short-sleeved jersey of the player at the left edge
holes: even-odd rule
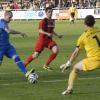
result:
[[[4,19],[0,19],[0,45],[9,45],[9,33],[5,31],[8,28],[8,23]]]

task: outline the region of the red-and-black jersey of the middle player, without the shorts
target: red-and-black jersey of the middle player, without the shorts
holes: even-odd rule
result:
[[[39,29],[42,29],[45,32],[48,32],[48,33],[51,33],[51,34],[53,34],[54,27],[55,27],[54,19],[44,18],[39,23]],[[42,34],[40,32],[39,32],[39,38],[46,39],[46,40],[52,39],[52,37],[49,37],[48,35]]]

